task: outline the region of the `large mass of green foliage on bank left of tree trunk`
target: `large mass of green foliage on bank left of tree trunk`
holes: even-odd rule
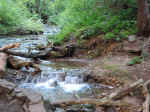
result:
[[[120,40],[135,34],[136,2],[113,1],[122,3],[117,5],[121,7],[119,10],[110,10],[99,0],[55,0],[51,5],[54,13],[51,13],[49,22],[57,24],[62,30],[51,39],[63,41],[68,37],[89,38],[103,33],[106,39]],[[122,8],[124,4],[128,8]]]

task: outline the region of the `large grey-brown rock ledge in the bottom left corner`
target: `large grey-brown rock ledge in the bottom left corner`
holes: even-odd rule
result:
[[[42,97],[0,79],[0,112],[46,112]]]

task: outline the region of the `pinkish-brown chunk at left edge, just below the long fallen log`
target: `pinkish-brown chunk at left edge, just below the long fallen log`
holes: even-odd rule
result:
[[[0,76],[2,76],[6,71],[7,58],[7,54],[0,53]]]

